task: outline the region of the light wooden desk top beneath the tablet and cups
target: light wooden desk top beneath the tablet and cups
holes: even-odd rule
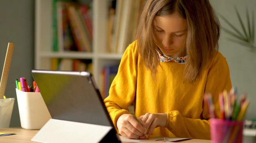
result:
[[[25,130],[20,127],[16,128],[0,128],[0,132],[13,132],[14,135],[0,137],[0,143],[37,143],[31,141],[38,130]],[[210,140],[189,139],[186,141],[179,141],[179,143],[211,143]]]

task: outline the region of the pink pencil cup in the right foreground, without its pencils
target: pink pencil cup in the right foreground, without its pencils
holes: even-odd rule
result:
[[[212,143],[242,143],[243,121],[210,119]]]

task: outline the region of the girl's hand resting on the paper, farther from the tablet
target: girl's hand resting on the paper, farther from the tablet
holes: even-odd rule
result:
[[[149,136],[157,127],[166,127],[167,113],[146,113],[139,117],[148,129],[147,135]]]

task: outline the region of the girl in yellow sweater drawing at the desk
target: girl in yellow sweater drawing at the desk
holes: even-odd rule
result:
[[[117,132],[129,139],[210,139],[204,93],[213,95],[219,111],[219,93],[231,89],[219,36],[209,0],[147,0],[137,40],[124,52],[104,100]],[[138,120],[128,111],[132,103]]]

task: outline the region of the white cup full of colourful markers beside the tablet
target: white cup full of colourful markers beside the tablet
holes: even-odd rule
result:
[[[40,130],[51,115],[40,92],[24,92],[16,89],[20,125],[27,130]]]

